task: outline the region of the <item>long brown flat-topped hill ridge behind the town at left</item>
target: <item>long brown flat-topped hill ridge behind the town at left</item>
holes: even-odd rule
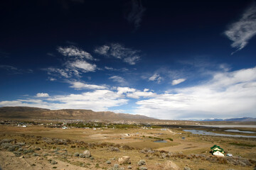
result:
[[[31,107],[1,107],[1,119],[80,119],[80,120],[156,120],[144,115],[114,113],[110,111],[95,112],[85,109],[50,110]]]

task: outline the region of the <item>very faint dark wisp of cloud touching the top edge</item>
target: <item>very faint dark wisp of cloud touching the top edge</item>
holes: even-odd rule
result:
[[[129,23],[134,24],[134,28],[138,29],[141,22],[142,22],[142,16],[144,15],[144,12],[146,11],[146,8],[142,5],[142,0],[132,0],[130,1],[130,9],[125,18]]]

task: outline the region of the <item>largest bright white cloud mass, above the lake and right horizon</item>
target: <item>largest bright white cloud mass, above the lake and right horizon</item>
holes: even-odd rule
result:
[[[255,117],[255,98],[256,67],[218,72],[204,84],[137,101],[135,113],[168,119]]]

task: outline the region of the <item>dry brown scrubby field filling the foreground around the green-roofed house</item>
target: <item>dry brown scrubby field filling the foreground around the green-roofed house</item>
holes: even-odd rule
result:
[[[166,142],[154,142],[159,139]],[[64,130],[0,125],[0,144],[2,169],[210,170],[255,169],[256,165],[256,139],[192,135],[178,128]],[[213,157],[209,153],[213,145],[234,157]],[[129,160],[119,160],[124,156]]]

